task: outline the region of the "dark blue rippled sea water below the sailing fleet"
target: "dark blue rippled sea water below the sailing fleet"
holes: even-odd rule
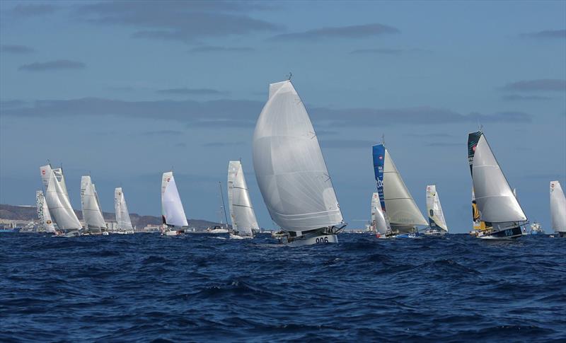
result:
[[[0,341],[566,339],[566,239],[0,235]]]

